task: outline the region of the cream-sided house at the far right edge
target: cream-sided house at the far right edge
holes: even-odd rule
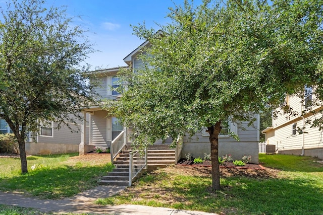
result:
[[[311,128],[311,125],[306,123],[322,117],[322,114],[306,111],[306,106],[310,105],[315,98],[312,95],[312,88],[305,87],[304,92],[303,100],[297,96],[288,95],[285,99],[286,109],[277,109],[279,114],[273,117],[272,127],[262,132],[266,134],[266,144],[274,145],[276,153],[323,159],[323,130],[318,130],[317,127]],[[298,114],[290,114],[287,111],[288,107]],[[312,110],[317,112],[319,109],[321,107],[316,106]],[[303,111],[305,114],[301,115]]]

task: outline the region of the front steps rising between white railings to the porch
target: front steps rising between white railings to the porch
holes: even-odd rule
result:
[[[167,148],[166,148],[167,147]],[[116,168],[112,172],[107,173],[98,181],[102,185],[129,185],[129,153],[131,151],[123,151],[114,161]],[[152,171],[157,168],[165,168],[169,165],[175,164],[175,150],[168,149],[168,145],[163,147],[151,146],[147,151],[148,170]]]

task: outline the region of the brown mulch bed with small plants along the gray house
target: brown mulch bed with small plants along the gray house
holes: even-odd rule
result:
[[[211,161],[203,161],[203,163],[194,164],[193,161],[180,160],[177,165],[180,166],[202,166],[211,167]],[[237,168],[237,169],[254,169],[254,170],[264,170],[265,168],[259,164],[246,164],[245,166],[236,166],[232,162],[224,162],[220,165],[220,168]]]

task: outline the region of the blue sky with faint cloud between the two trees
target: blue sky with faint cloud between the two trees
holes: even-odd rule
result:
[[[10,0],[8,0],[10,1]],[[147,28],[158,30],[158,24],[169,23],[166,18],[174,3],[183,5],[184,0],[46,0],[46,5],[67,6],[69,17],[75,24],[89,30],[88,39],[99,52],[89,54],[86,62],[95,68],[124,66],[123,58],[144,41],[133,35],[130,25],[145,22]],[[201,2],[194,0],[194,4]],[[6,6],[0,1],[0,6]],[[5,7],[6,8],[6,7]]]

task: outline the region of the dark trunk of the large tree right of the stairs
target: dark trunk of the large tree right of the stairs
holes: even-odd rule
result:
[[[210,134],[209,140],[211,144],[211,163],[212,163],[212,189],[220,189],[220,168],[219,168],[219,134],[221,131],[221,121],[215,125],[207,127]]]

